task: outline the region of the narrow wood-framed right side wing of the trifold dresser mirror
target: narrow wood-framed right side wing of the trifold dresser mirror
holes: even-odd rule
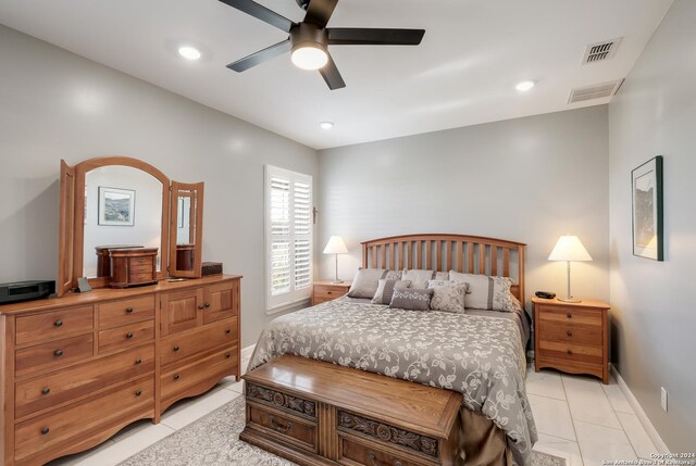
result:
[[[203,184],[172,182],[170,275],[200,277]]]

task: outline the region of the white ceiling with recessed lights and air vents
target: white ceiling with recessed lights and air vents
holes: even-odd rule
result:
[[[295,0],[259,3],[299,22]],[[672,0],[340,0],[330,27],[424,28],[418,47],[332,46],[331,91],[289,54],[226,64],[287,37],[217,0],[0,0],[0,23],[314,149],[607,103],[571,88],[620,79]],[[611,60],[585,47],[623,37]],[[179,45],[203,56],[186,62]],[[3,64],[5,66],[7,64]],[[519,92],[514,85],[534,79]],[[319,123],[332,121],[331,130]]]

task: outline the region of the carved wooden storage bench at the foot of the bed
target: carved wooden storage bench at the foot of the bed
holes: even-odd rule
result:
[[[291,462],[456,464],[460,393],[290,355],[243,378],[239,438]]]

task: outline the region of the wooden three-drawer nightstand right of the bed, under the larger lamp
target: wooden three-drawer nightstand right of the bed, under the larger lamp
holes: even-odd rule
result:
[[[532,298],[534,304],[534,369],[554,367],[591,374],[609,383],[609,305],[583,300],[564,303]]]

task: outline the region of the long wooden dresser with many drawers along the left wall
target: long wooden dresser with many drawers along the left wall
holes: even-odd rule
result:
[[[0,306],[2,464],[87,450],[239,369],[240,276]]]

